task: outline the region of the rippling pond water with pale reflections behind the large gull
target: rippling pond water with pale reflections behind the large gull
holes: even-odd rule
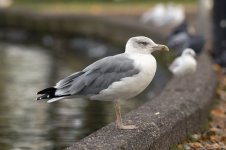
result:
[[[57,150],[114,121],[111,102],[86,99],[36,101],[37,91],[90,63],[79,53],[55,56],[38,46],[0,43],[0,149]],[[153,98],[169,80],[158,66],[155,80],[136,99],[122,102],[123,113]]]

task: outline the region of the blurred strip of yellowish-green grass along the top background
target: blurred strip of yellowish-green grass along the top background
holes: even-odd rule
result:
[[[118,2],[116,2],[116,0],[17,0],[12,7],[53,13],[140,14],[148,10],[157,2],[160,2],[158,0],[117,1]],[[163,0],[161,2],[169,2],[169,0]],[[186,7],[191,5],[194,6],[194,4],[196,4],[195,0],[174,0],[174,2],[186,4]]]

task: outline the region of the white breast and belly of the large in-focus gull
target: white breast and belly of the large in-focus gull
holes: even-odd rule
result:
[[[114,82],[98,95],[91,96],[90,99],[129,99],[140,94],[151,83],[156,72],[155,58],[147,54],[129,54],[129,57],[134,60],[134,65],[140,72]]]

